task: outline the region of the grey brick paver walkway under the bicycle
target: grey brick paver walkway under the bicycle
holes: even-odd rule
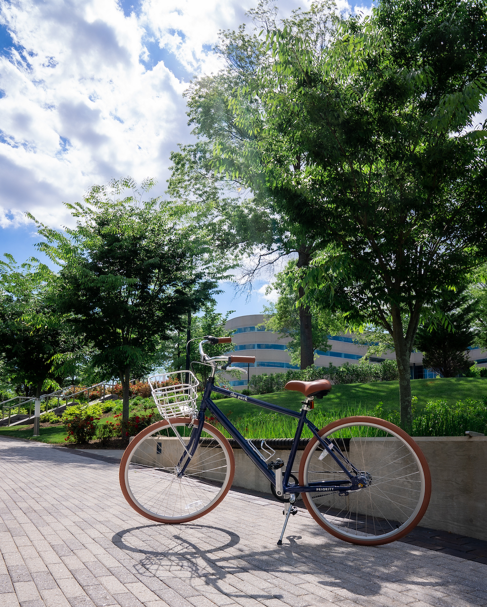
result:
[[[300,510],[230,492],[193,523],[133,512],[118,466],[0,436],[0,606],[487,605],[487,565],[346,544]]]

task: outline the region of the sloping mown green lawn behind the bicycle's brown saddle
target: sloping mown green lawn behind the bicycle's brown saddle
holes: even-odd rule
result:
[[[426,402],[430,399],[443,399],[449,405],[466,398],[480,399],[487,396],[487,378],[438,378],[438,379],[414,379],[411,382],[412,395],[418,397],[416,409],[422,411]],[[303,399],[298,392],[275,392],[272,394],[258,395],[255,398],[272,404],[298,410]],[[249,402],[239,401],[235,398],[226,398],[215,401],[218,407],[230,417],[235,418],[244,414],[266,411]],[[345,410],[348,407],[362,407],[363,409],[374,409],[383,402],[385,411],[399,409],[399,382],[385,381],[372,382],[370,384],[345,384],[334,385],[329,395],[321,400],[315,401],[315,407],[323,411]]]

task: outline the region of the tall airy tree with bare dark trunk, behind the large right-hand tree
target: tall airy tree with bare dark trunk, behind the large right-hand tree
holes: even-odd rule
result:
[[[274,5],[260,2],[249,14],[274,27],[277,10]],[[291,22],[303,29],[315,49],[320,49],[332,29],[331,3],[313,5],[311,12],[315,23],[309,27],[298,12]],[[319,243],[301,228],[299,221],[290,220],[277,205],[278,196],[291,196],[287,189],[274,191],[266,188],[262,175],[255,171],[252,158],[239,155],[246,143],[255,140],[257,131],[248,129],[236,120],[231,107],[235,87],[244,89],[264,86],[260,70],[272,70],[267,53],[254,33],[247,33],[244,25],[237,32],[222,32],[217,48],[226,68],[216,76],[204,76],[195,80],[186,92],[189,108],[189,124],[198,143],[184,146],[180,152],[172,154],[172,177],[169,193],[183,200],[198,200],[213,214],[211,225],[215,233],[215,245],[225,251],[233,251],[240,257],[255,255],[255,263],[250,263],[243,272],[243,282],[248,284],[263,268],[274,268],[274,263],[282,257],[297,256],[297,267],[306,268],[319,249]],[[257,76],[259,75],[258,81]],[[254,113],[258,109],[253,110]],[[226,154],[232,150],[232,181],[223,168],[215,174],[213,149]],[[238,157],[238,161],[237,161]],[[306,167],[306,157],[296,152],[292,166],[297,170]],[[225,180],[225,177],[227,178]],[[249,191],[250,188],[250,191]],[[237,191],[239,195],[230,195]],[[302,302],[304,290],[298,286],[300,302],[300,363],[301,368],[314,363],[312,320],[310,306]]]

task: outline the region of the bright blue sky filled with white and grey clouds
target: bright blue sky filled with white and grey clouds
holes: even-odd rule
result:
[[[70,225],[63,202],[94,184],[155,178],[193,137],[184,90],[218,72],[219,30],[249,23],[256,0],[0,0],[0,257],[38,256],[35,224]],[[307,8],[278,0],[280,16]],[[370,2],[351,8],[368,12]],[[260,313],[269,276],[252,295],[223,284],[218,311]]]

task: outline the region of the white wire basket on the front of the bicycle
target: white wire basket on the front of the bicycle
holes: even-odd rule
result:
[[[200,382],[192,371],[173,371],[149,378],[152,398],[164,419],[190,417],[196,412]]]

